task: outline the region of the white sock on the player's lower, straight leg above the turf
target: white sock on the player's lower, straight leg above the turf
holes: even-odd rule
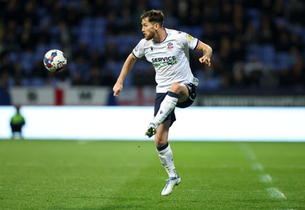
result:
[[[173,161],[173,152],[171,150],[171,146],[168,144],[164,150],[157,150],[157,152],[162,165],[168,173],[168,177],[177,177],[178,175]]]

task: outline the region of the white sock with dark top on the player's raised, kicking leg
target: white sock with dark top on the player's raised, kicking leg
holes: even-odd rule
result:
[[[155,116],[154,123],[157,123],[157,125],[163,123],[166,116],[168,116],[168,114],[170,114],[177,105],[178,99],[178,94],[169,91],[160,105],[159,111]]]

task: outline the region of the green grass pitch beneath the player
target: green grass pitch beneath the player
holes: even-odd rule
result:
[[[182,183],[162,196],[153,141],[0,141],[0,209],[305,209],[305,143],[171,148]]]

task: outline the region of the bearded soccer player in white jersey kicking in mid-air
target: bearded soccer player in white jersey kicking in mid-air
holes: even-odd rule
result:
[[[175,119],[175,107],[189,107],[195,100],[198,79],[191,73],[189,49],[202,51],[202,64],[211,65],[212,49],[209,45],[182,31],[164,28],[164,15],[160,10],[150,10],[141,15],[144,38],[133,49],[123,64],[119,78],[113,87],[114,96],[123,89],[125,77],[137,59],[144,55],[155,67],[157,82],[155,114],[145,134],[155,135],[155,144],[168,180],[162,195],[168,195],[180,184],[173,162],[173,152],[168,143],[168,131]]]

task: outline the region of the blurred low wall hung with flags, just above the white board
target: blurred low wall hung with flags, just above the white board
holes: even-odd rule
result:
[[[120,97],[112,97],[110,87],[10,87],[13,104],[20,105],[154,105],[155,87],[124,88]],[[194,105],[198,106],[254,106],[254,107],[305,107],[303,92],[273,91],[245,94],[241,91],[200,92]]]

